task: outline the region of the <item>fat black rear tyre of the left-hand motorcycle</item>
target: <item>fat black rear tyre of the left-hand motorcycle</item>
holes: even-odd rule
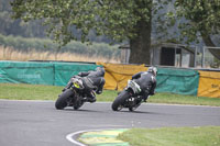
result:
[[[69,98],[74,96],[74,91],[72,89],[65,90],[56,100],[55,108],[57,110],[63,110],[68,105]]]

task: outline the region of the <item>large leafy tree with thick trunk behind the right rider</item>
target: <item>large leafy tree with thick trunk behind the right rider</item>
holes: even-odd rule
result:
[[[14,0],[13,16],[24,21],[40,19],[47,33],[62,45],[97,35],[130,42],[130,63],[150,64],[153,0]]]

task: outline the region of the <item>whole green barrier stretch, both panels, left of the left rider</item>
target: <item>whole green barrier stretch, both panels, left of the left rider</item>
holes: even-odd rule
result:
[[[78,63],[0,61],[0,82],[65,86],[72,76],[96,67]]]

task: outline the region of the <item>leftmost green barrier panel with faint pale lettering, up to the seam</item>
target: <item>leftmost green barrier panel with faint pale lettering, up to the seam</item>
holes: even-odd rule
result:
[[[0,82],[53,85],[53,64],[0,61]]]

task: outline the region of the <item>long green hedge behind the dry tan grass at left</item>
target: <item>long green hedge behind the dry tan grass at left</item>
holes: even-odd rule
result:
[[[29,52],[35,49],[37,52],[70,52],[81,55],[94,55],[106,58],[117,58],[120,57],[120,49],[117,45],[108,45],[105,43],[94,43],[94,44],[82,44],[80,42],[72,41],[68,45],[59,46],[51,40],[41,38],[24,38],[24,37],[13,37],[0,35],[0,45],[4,47],[13,47],[16,50]]]

